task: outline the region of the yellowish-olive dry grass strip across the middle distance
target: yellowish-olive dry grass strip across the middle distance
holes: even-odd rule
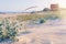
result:
[[[30,15],[18,15],[16,18],[22,21],[28,21],[28,20],[36,20],[38,18],[43,18],[45,15],[38,15],[38,14],[30,14]]]

